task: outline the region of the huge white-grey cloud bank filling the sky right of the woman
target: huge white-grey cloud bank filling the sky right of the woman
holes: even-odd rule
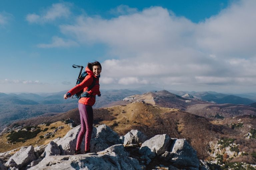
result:
[[[253,85],[255,6],[235,1],[200,23],[162,7],[124,10],[111,19],[79,16],[60,30],[79,43],[104,43],[108,55],[118,56],[102,63],[106,84]]]

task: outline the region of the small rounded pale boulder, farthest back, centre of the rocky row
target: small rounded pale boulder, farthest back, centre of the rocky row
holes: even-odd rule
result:
[[[144,133],[139,130],[131,130],[126,135],[124,135],[124,146],[129,144],[140,144],[147,140]]]

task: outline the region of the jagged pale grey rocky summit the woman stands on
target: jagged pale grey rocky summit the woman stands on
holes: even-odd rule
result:
[[[71,129],[63,138],[47,145],[25,146],[0,154],[1,170],[197,170],[207,169],[200,164],[196,151],[186,139],[159,134],[152,138],[139,130],[118,136],[106,125],[94,127],[91,153],[73,155],[80,126]],[[81,151],[84,150],[84,141]]]

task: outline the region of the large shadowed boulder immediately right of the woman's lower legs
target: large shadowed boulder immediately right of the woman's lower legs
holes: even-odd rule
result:
[[[119,144],[118,134],[108,126],[100,125],[96,137],[91,139],[90,148],[91,152],[98,152],[115,144]]]

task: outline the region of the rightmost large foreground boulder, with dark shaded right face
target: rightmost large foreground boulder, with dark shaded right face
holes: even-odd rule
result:
[[[170,147],[170,152],[166,151],[162,157],[174,166],[190,169],[199,168],[196,151],[188,144],[186,139],[175,139]]]

